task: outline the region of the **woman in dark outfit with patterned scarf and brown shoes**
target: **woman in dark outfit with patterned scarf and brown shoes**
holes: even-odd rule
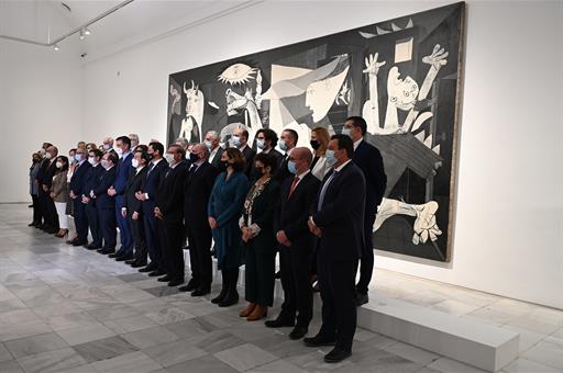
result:
[[[274,207],[279,197],[279,184],[272,178],[276,171],[276,158],[260,152],[254,162],[261,178],[249,191],[243,215],[239,221],[245,252],[245,298],[249,302],[240,316],[246,317],[249,321],[265,317],[274,302]]]

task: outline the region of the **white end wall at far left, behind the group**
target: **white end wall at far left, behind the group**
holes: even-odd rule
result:
[[[0,203],[31,200],[31,155],[43,142],[64,155],[76,145],[82,133],[81,88],[79,58],[68,50],[0,41],[0,169],[9,170],[0,181]]]

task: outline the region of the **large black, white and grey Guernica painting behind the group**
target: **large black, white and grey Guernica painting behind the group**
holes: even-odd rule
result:
[[[340,133],[351,115],[384,158],[378,250],[449,261],[461,97],[464,3],[169,76],[168,142],[229,144],[233,128]]]

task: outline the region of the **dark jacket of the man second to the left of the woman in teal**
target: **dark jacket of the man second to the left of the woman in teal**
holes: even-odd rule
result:
[[[178,223],[184,218],[184,181],[188,174],[187,162],[183,160],[176,167],[168,167],[158,185],[155,206],[161,210],[164,221]]]

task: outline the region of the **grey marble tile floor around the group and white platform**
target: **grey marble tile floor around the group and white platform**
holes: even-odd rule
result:
[[[291,341],[125,264],[29,228],[31,210],[0,204],[0,372],[482,372],[358,329],[354,353]],[[517,330],[506,373],[563,372],[563,312],[389,271],[371,292]],[[213,290],[217,293],[217,289]],[[317,307],[318,309],[319,307]],[[273,310],[275,314],[277,308]],[[310,327],[316,332],[319,314]]]

